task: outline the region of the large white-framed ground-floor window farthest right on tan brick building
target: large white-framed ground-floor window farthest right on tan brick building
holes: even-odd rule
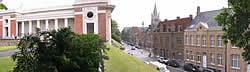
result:
[[[240,68],[240,55],[232,55],[232,67]]]

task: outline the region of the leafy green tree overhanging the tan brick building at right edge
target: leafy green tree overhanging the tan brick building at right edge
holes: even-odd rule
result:
[[[243,48],[242,56],[250,60],[250,0],[228,0],[229,8],[224,8],[215,17],[222,26],[224,42]]]

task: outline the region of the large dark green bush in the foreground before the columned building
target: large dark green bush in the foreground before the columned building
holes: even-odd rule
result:
[[[37,32],[20,40],[14,72],[98,72],[104,43],[99,35],[77,35],[70,28]]]

